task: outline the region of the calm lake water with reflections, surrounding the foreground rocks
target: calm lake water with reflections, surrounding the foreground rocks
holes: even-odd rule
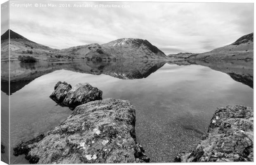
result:
[[[15,145],[71,114],[49,98],[58,81],[89,83],[103,91],[103,99],[130,100],[137,142],[150,162],[172,162],[180,151],[192,149],[216,107],[253,107],[253,61],[13,62],[10,70],[12,164],[28,163],[24,155],[12,155]],[[6,77],[1,79],[3,98],[8,90]]]

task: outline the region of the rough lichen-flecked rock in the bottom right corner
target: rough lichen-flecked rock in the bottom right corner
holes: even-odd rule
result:
[[[253,110],[242,105],[217,108],[208,131],[191,153],[176,162],[253,161]]]

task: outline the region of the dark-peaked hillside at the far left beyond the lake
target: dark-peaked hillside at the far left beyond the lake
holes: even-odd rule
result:
[[[10,40],[8,40],[9,36]],[[47,60],[58,51],[58,49],[52,49],[48,46],[28,40],[12,30],[7,30],[1,35],[1,61],[8,60],[9,46],[10,60],[17,60],[20,55],[29,55],[39,60]]]

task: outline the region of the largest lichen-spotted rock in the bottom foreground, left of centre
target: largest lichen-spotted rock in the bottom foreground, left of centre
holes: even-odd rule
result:
[[[76,107],[54,130],[15,147],[20,154],[40,164],[149,162],[136,142],[135,109],[116,99]]]

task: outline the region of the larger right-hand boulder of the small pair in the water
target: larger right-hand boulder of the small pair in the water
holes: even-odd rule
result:
[[[102,100],[102,91],[88,83],[79,83],[66,93],[63,104],[68,107],[76,107],[95,100]]]

